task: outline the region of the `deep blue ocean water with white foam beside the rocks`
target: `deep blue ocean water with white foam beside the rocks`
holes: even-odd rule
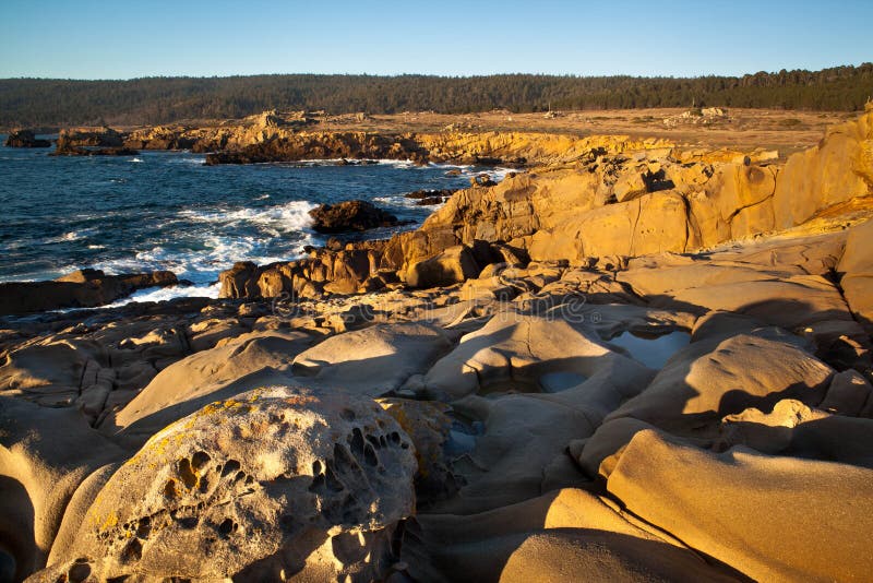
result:
[[[162,269],[196,284],[179,295],[214,295],[208,286],[235,261],[291,260],[303,246],[323,243],[309,228],[308,212],[318,204],[364,199],[420,224],[433,207],[416,206],[404,193],[461,188],[482,170],[450,176],[451,167],[408,162],[204,166],[204,155],[189,152],[48,152],[0,147],[0,281],[55,278],[82,267]]]

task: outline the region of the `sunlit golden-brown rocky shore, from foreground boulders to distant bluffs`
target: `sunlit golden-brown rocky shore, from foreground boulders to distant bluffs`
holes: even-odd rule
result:
[[[0,580],[864,581],[873,106],[805,142],[739,145],[730,115],[61,131],[512,171],[417,229],[237,263],[217,299],[0,284]]]

